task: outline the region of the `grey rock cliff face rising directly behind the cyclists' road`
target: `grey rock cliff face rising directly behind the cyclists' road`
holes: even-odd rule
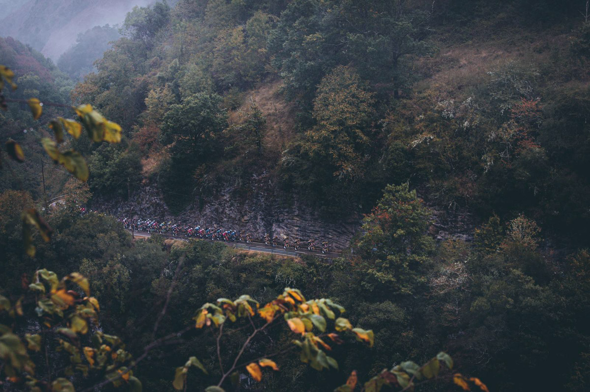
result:
[[[274,186],[266,174],[250,183],[248,197],[235,196],[235,187],[225,187],[217,195],[191,203],[179,215],[173,215],[163,202],[162,192],[155,185],[148,185],[132,193],[129,200],[96,199],[91,208],[115,216],[135,216],[139,219],[155,219],[159,222],[179,225],[201,225],[203,227],[234,229],[250,232],[254,238],[263,238],[265,233],[282,238],[309,238],[316,242],[329,241],[331,248],[342,250],[350,246],[350,240],[360,229],[362,215],[351,213],[349,218],[339,221],[322,219],[312,207],[292,198],[285,200],[284,193]],[[474,223],[466,210],[447,211],[426,203],[432,210],[430,233],[437,241],[448,238],[471,241]]]

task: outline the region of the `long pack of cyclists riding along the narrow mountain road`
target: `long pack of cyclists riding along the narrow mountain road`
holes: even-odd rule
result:
[[[238,233],[235,230],[223,230],[221,228],[211,229],[208,227],[202,228],[201,226],[180,226],[172,224],[172,222],[156,222],[156,220],[119,218],[119,221],[123,223],[124,228],[128,230],[136,230],[139,232],[159,234],[171,233],[173,236],[185,236],[187,238],[202,238],[227,242],[252,242],[252,236],[250,233]],[[291,241],[289,236],[285,236],[281,241],[281,239],[279,239],[277,236],[271,238],[270,235],[265,234],[263,242],[266,245],[273,246],[273,248],[282,242],[283,249],[293,248],[297,251],[301,245],[301,238],[296,238]],[[320,246],[322,253],[329,252],[329,243],[327,241],[323,241]],[[316,251],[316,248],[320,248],[320,246],[316,245],[316,241],[314,239],[307,241],[308,251]]]

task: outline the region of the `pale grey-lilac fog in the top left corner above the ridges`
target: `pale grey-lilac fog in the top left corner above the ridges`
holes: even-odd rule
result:
[[[133,6],[153,0],[0,0],[0,36],[13,37],[57,61],[79,33],[121,24]],[[170,3],[170,2],[169,2]]]

